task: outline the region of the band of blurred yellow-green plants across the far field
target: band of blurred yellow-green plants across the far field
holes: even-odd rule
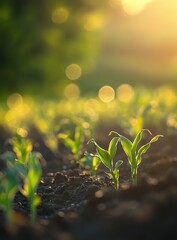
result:
[[[129,97],[125,87],[131,89]],[[174,88],[163,86],[153,90],[122,84],[117,90],[111,88],[111,91],[113,96],[106,92],[100,96],[98,92],[98,96],[80,97],[77,101],[42,100],[42,103],[13,94],[0,105],[0,126],[12,134],[17,129],[28,130],[34,126],[52,152],[58,151],[58,134],[65,133],[74,139],[74,129],[78,124],[83,126],[86,139],[94,135],[100,124],[110,128],[112,124],[119,126],[132,137],[142,128],[152,130],[152,126],[162,134],[162,129],[176,132],[177,93]]]

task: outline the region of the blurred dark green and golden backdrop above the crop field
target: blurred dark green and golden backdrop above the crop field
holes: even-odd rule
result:
[[[176,0],[1,0],[1,97],[176,87],[176,12]]]

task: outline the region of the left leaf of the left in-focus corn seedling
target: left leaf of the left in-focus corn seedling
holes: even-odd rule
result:
[[[108,151],[106,151],[105,149],[101,148],[94,139],[90,140],[90,142],[92,142],[95,146],[96,146],[96,151],[97,154],[100,158],[100,160],[102,161],[102,163],[109,169],[112,168],[112,158],[109,155]]]

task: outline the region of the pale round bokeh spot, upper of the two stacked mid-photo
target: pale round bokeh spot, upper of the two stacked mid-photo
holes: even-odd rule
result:
[[[77,80],[82,74],[82,69],[78,64],[70,64],[67,66],[65,73],[70,80]]]

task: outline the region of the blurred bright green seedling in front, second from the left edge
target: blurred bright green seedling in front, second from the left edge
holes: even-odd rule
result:
[[[21,193],[29,199],[31,207],[31,221],[34,222],[36,219],[36,207],[40,203],[40,197],[36,195],[38,183],[41,178],[41,165],[37,158],[36,153],[29,155],[27,164],[27,173],[24,178],[24,185],[20,189]],[[24,174],[24,173],[22,173]]]

